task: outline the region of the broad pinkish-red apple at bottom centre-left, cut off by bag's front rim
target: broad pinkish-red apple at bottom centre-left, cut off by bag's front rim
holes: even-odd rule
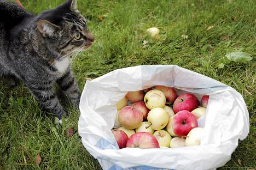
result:
[[[158,140],[149,132],[137,132],[127,141],[127,148],[160,148]]]

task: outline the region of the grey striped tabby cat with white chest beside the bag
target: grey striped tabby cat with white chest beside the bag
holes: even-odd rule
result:
[[[53,89],[55,82],[75,105],[80,92],[70,68],[74,52],[94,42],[77,0],[32,15],[0,0],[0,76],[23,81],[46,110],[61,119],[66,112]]]

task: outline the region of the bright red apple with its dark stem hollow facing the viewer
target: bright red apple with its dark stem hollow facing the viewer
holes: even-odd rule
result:
[[[189,111],[179,111],[172,119],[173,132],[178,136],[186,136],[189,131],[197,127],[197,119]]]

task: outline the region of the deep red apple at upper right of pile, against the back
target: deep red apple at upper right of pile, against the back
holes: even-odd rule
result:
[[[199,101],[194,94],[182,94],[173,103],[173,111],[177,113],[179,111],[187,110],[189,112],[193,111],[199,106]]]

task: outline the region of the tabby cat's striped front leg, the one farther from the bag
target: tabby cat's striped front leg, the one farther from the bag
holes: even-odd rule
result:
[[[46,110],[56,114],[59,119],[61,119],[62,116],[67,116],[59,99],[57,99],[52,85],[27,84],[27,87]]]

